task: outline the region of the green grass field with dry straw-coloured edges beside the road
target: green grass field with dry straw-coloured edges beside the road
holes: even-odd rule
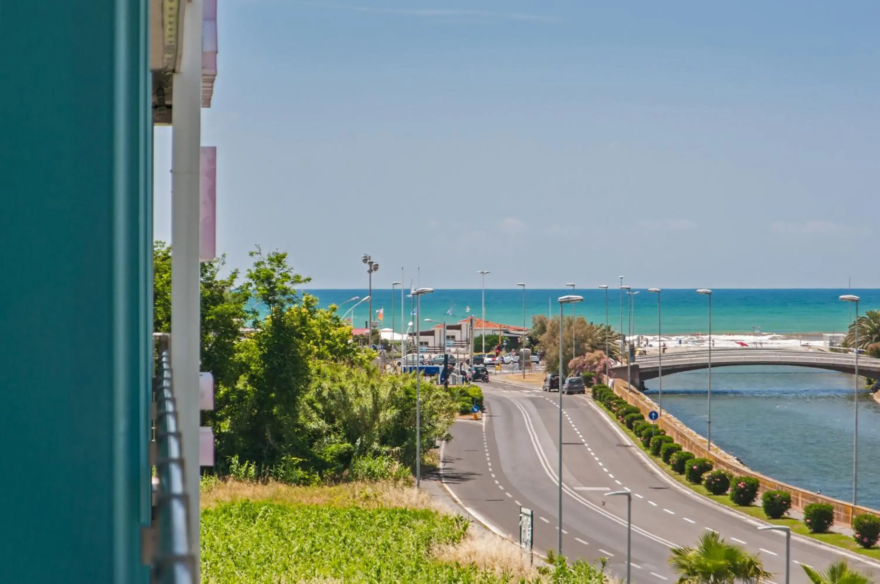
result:
[[[203,486],[202,579],[263,582],[592,582],[598,569],[535,568],[517,546],[477,538],[408,485]],[[606,584],[611,579],[605,578]]]

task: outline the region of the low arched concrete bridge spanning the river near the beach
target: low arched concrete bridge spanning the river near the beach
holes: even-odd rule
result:
[[[671,375],[683,371],[706,369],[708,367],[708,349],[680,351],[663,355],[663,373]],[[712,367],[729,367],[730,365],[796,365],[815,369],[829,369],[843,373],[855,372],[855,355],[847,353],[825,353],[819,351],[803,351],[798,349],[759,349],[759,348],[722,348],[712,350]],[[659,376],[657,355],[637,358],[632,365],[630,383],[641,387],[648,379]],[[859,375],[880,379],[880,359],[859,355]],[[627,366],[618,365],[612,368],[612,376],[617,379],[627,378]]]

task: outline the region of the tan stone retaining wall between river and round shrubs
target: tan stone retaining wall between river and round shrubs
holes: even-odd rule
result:
[[[612,389],[618,396],[620,396],[620,398],[627,400],[627,403],[638,407],[646,419],[648,418],[648,412],[652,410],[656,411],[658,409],[656,403],[654,403],[652,399],[645,396],[641,391],[637,391],[628,386],[622,379],[612,380]],[[877,511],[876,509],[870,509],[869,507],[862,507],[859,505],[854,506],[842,500],[810,493],[810,491],[806,491],[799,487],[787,485],[774,480],[773,478],[765,477],[759,472],[752,471],[743,464],[737,463],[736,458],[730,456],[722,449],[716,448],[715,444],[712,445],[712,451],[707,452],[706,438],[700,436],[700,434],[697,434],[691,428],[687,427],[684,423],[667,412],[664,412],[662,418],[656,420],[656,424],[663,428],[666,431],[666,434],[671,436],[675,442],[681,444],[682,449],[693,452],[696,456],[702,456],[711,460],[715,469],[728,471],[735,476],[757,478],[759,482],[759,496],[760,493],[764,493],[765,491],[785,491],[791,495],[791,507],[799,511],[803,511],[803,507],[806,507],[810,503],[827,503],[834,507],[834,522],[840,523],[841,525],[852,525],[853,517],[855,515],[861,515],[862,513],[869,513],[880,517],[880,511]]]

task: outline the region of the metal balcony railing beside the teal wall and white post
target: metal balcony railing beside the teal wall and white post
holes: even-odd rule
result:
[[[155,335],[158,372],[153,378],[156,421],[154,427],[155,492],[151,528],[155,551],[151,554],[151,581],[158,584],[194,584],[195,557],[189,547],[187,500],[184,489],[183,443],[172,380],[168,335]],[[198,461],[193,461],[197,464]]]

